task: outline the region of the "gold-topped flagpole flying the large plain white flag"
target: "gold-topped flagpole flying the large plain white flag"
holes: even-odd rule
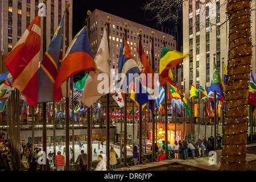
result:
[[[107,17],[108,23],[106,23],[107,27],[108,27],[108,45],[109,45],[109,34],[110,34],[110,17]],[[108,46],[109,47],[109,46]],[[109,47],[109,55],[110,55],[110,47]],[[110,139],[110,116],[109,116],[109,104],[110,104],[110,93],[108,93],[106,95],[106,158],[107,158],[107,169],[110,167],[110,143],[109,143],[109,139]]]

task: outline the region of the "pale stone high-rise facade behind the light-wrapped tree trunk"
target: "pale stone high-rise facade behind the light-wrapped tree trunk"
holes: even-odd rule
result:
[[[183,2],[183,52],[192,53],[185,57],[183,64],[185,91],[189,97],[191,85],[210,86],[213,75],[213,54],[216,56],[218,71],[223,78],[223,63],[228,65],[229,21],[226,16],[226,1],[193,0]],[[255,2],[251,3],[255,7]],[[255,44],[255,12],[251,11],[251,36]],[[224,59],[222,59],[224,58]],[[251,59],[255,76],[255,47]],[[200,117],[203,118],[203,102],[200,105]],[[201,120],[201,119],[200,119]]]

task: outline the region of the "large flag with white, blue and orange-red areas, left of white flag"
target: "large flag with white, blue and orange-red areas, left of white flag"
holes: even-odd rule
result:
[[[68,84],[65,81],[86,69],[89,69],[89,72],[94,71],[95,65],[88,34],[84,27],[73,39],[61,62],[54,85],[54,101],[59,102],[61,97],[69,96],[69,88],[66,89]]]

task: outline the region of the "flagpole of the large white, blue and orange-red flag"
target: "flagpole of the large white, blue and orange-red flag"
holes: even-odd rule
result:
[[[87,34],[88,38],[90,40],[90,15],[91,11],[87,11],[88,18],[86,18],[86,26],[87,26]],[[92,122],[91,122],[91,117],[90,114],[92,113],[92,107],[87,108],[87,170],[91,170],[92,166],[92,133],[91,133],[91,127],[92,127]],[[75,111],[74,111],[75,114]],[[75,152],[75,149],[73,149],[73,152]]]

